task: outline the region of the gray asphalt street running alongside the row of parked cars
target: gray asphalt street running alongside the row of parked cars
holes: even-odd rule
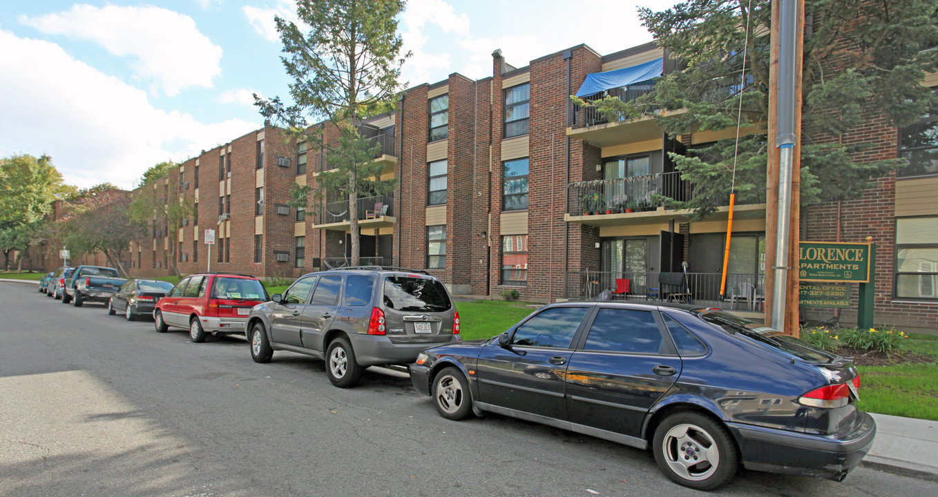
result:
[[[703,495],[643,452],[491,415],[439,417],[405,374],[329,384],[323,363],[243,338],[189,342],[100,305],[0,282],[0,495]],[[934,495],[859,468],[842,483],[741,472],[726,496]]]

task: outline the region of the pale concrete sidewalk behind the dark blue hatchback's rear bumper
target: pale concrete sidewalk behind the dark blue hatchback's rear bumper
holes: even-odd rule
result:
[[[863,466],[938,481],[938,421],[871,415],[876,438]]]

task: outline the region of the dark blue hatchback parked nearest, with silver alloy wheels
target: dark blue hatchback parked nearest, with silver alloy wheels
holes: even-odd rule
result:
[[[738,464],[840,481],[876,433],[850,359],[683,304],[553,304],[498,337],[428,349],[410,373],[448,419],[492,412],[650,446],[693,489]]]

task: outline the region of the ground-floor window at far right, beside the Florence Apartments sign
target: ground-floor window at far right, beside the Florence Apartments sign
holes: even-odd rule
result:
[[[938,300],[938,217],[896,219],[896,297]]]

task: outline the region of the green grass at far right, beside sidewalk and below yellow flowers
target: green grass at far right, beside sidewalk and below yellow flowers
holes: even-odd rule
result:
[[[901,348],[938,358],[938,337],[913,334]],[[859,366],[859,408],[938,421],[938,364]]]

